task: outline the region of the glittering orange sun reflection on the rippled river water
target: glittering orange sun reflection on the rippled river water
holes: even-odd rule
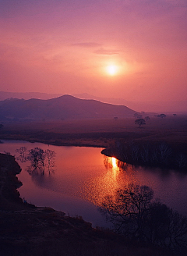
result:
[[[132,165],[119,161],[114,157],[104,156],[106,171],[87,181],[83,187],[83,197],[100,206],[104,197],[113,195],[119,188],[128,183],[136,183],[135,171]]]

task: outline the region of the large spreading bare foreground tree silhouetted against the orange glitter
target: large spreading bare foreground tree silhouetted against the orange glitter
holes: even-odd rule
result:
[[[129,184],[117,190],[114,196],[108,195],[101,206],[118,233],[125,236],[143,238],[143,216],[153,198],[153,190],[147,186]]]

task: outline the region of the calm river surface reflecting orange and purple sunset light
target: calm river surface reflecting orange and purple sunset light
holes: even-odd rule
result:
[[[127,183],[147,185],[154,197],[187,215],[187,176],[175,171],[135,168],[120,164],[115,158],[101,155],[101,148],[58,147],[26,141],[2,140],[0,152],[19,156],[16,149],[26,147],[55,151],[53,172],[29,174],[30,162],[19,162],[23,169],[18,175],[23,186],[21,197],[37,206],[49,206],[67,215],[81,215],[93,226],[108,226],[97,210],[107,194]]]

